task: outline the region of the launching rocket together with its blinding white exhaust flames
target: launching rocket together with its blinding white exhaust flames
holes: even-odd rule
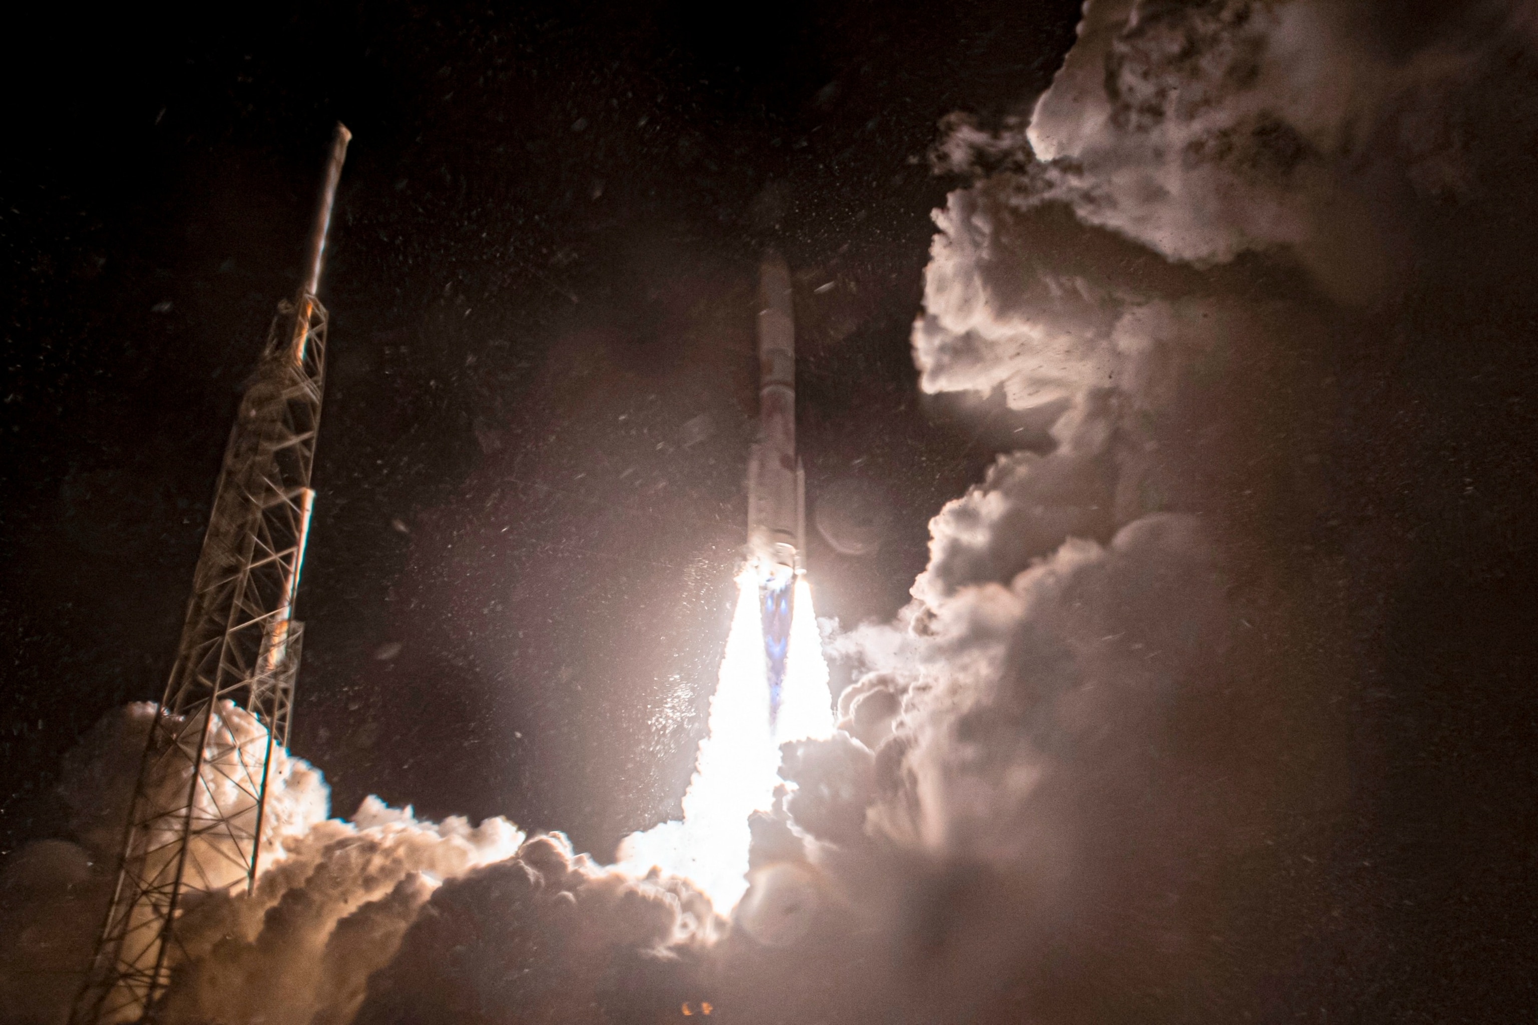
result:
[[[795,455],[795,320],[791,270],[775,254],[758,275],[758,441],[747,464],[747,566],[711,698],[709,731],[683,819],[632,833],[620,865],[657,867],[729,913],[747,890],[747,819],[769,811],[780,745],[834,731],[827,662],[803,559],[806,473]]]

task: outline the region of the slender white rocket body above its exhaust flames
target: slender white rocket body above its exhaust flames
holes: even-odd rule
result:
[[[806,473],[795,455],[795,320],[791,269],[758,267],[758,441],[747,461],[747,547],[774,575],[801,570]]]

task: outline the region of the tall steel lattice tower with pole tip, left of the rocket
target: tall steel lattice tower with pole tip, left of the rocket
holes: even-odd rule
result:
[[[177,917],[208,894],[255,885],[268,767],[274,745],[288,745],[303,642],[294,598],[326,369],[315,290],[351,138],[337,124],[305,280],[294,303],[278,306],[229,433],[117,887],[71,1025],[154,1020],[180,956]]]

